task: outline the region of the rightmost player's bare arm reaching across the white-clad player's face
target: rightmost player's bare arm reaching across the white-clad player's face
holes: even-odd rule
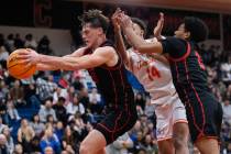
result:
[[[134,48],[140,53],[163,53],[163,47],[160,42],[145,42],[144,38],[134,33],[131,19],[125,14],[121,14],[120,16],[122,30]]]

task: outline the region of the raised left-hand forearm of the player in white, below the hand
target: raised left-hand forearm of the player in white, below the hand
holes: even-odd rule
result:
[[[125,52],[125,45],[124,45],[124,42],[123,42],[121,30],[114,31],[114,37],[116,37],[116,43],[117,43],[117,47],[119,50],[119,53],[122,56],[122,59],[123,59],[124,64],[127,66],[129,66],[130,59],[129,59],[129,56]]]

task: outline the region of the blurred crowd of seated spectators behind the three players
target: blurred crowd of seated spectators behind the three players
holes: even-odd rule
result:
[[[86,70],[40,72],[14,79],[6,61],[15,48],[32,47],[52,54],[50,40],[28,34],[0,34],[0,153],[77,154],[79,144],[107,110]],[[221,153],[231,153],[231,55],[220,46],[200,45],[208,82],[223,107]],[[134,89],[139,120],[107,147],[109,154],[157,154],[154,106],[145,91]],[[197,150],[190,147],[191,153]]]

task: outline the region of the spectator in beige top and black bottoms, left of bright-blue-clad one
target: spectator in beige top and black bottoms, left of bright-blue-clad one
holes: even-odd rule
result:
[[[22,144],[24,153],[31,153],[31,141],[35,136],[34,130],[29,125],[26,119],[22,119],[21,127],[18,130],[18,142]]]

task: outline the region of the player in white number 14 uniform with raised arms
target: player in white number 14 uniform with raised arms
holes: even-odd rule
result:
[[[135,48],[125,52],[121,31],[117,18],[120,10],[112,16],[118,48],[127,64],[145,90],[151,95],[155,106],[156,135],[161,154],[188,154],[188,124],[185,107],[182,103],[173,85],[170,68],[167,59],[160,55],[141,55]],[[132,19],[134,33],[144,38],[145,24],[140,19]],[[156,30],[162,31],[164,22],[161,15]],[[160,29],[160,30],[158,30]]]

